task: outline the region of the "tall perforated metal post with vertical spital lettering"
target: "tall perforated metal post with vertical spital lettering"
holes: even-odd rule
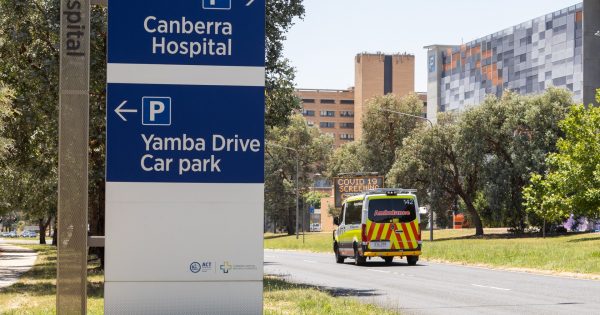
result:
[[[87,312],[90,2],[60,1],[56,313]],[[75,35],[74,35],[75,34]]]

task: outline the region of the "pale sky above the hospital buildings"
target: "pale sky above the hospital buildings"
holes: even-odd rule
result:
[[[415,90],[427,91],[427,51],[459,45],[580,3],[578,0],[304,0],[306,15],[287,34],[284,55],[296,87],[354,86],[361,52],[415,55]]]

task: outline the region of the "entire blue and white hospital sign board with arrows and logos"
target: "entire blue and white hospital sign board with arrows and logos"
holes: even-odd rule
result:
[[[262,313],[265,0],[108,10],[105,312]]]

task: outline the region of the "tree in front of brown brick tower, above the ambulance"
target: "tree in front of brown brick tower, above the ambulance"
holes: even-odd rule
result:
[[[386,109],[418,116],[422,113],[423,102],[416,94],[402,98],[388,94],[367,102],[362,138],[365,147],[364,168],[379,174],[386,174],[392,168],[396,151],[402,147],[402,140],[423,126],[420,119],[386,112]]]

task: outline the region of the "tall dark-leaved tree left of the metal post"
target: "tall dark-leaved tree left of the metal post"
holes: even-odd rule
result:
[[[0,1],[0,81],[14,89],[19,109],[3,131],[14,146],[0,165],[8,176],[0,180],[10,187],[5,200],[42,228],[57,200],[59,6],[49,0]]]

